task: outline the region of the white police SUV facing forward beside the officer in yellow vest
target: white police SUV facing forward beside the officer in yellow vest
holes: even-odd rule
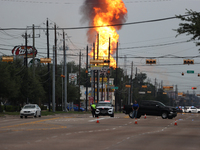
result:
[[[100,101],[96,105],[95,117],[110,116],[114,117],[114,108],[110,101]]]

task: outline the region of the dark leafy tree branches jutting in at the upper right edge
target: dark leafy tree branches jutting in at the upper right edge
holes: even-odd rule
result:
[[[200,13],[188,9],[186,10],[186,15],[176,16],[185,23],[180,23],[180,27],[178,29],[175,29],[175,31],[178,33],[178,35],[185,33],[186,35],[192,35],[189,41],[195,41],[196,46],[199,46],[200,42],[196,40],[200,40]]]

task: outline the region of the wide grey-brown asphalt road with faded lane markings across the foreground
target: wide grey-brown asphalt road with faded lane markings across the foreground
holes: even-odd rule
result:
[[[174,125],[176,119],[177,125]],[[200,114],[175,119],[65,114],[0,117],[0,150],[199,150]]]

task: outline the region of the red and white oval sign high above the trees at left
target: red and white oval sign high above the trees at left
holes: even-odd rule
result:
[[[12,49],[12,54],[26,57],[26,46],[23,46],[23,45],[15,46]],[[36,57],[36,54],[37,54],[37,50],[35,48],[34,50],[35,57]],[[27,57],[29,58],[33,57],[33,46],[27,46]]]

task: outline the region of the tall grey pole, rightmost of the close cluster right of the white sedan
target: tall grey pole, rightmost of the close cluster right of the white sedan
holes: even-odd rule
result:
[[[67,111],[67,64],[66,64],[66,51],[65,51],[65,31],[63,30],[63,51],[64,51],[64,104],[65,104],[65,111]]]

